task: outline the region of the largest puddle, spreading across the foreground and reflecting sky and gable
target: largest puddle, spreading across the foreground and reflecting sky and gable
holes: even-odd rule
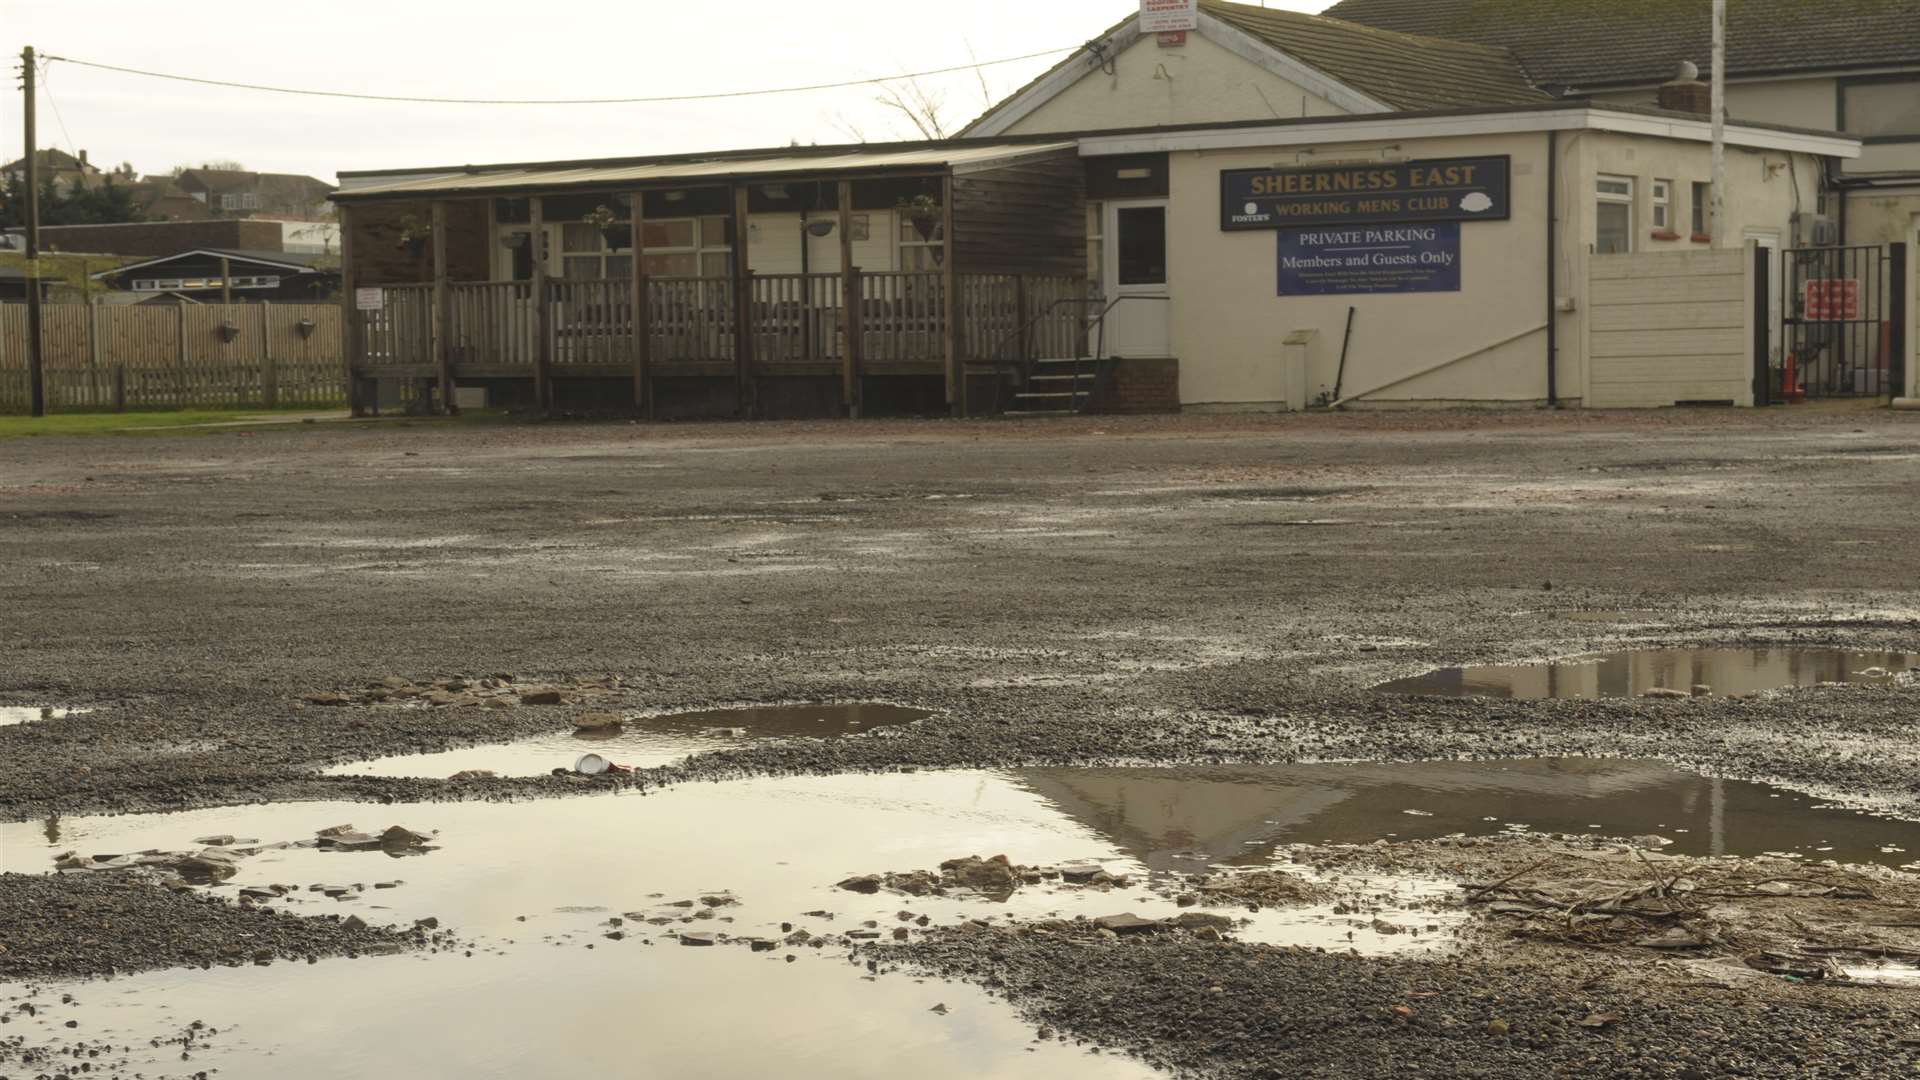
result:
[[[10,1034],[146,1047],[152,1036],[205,1020],[221,1036],[196,1051],[192,1068],[296,1080],[588,1070],[1146,1076],[1133,1061],[1035,1042],[1002,1001],[970,986],[904,974],[874,980],[835,947],[682,947],[678,934],[778,940],[781,924],[814,934],[874,924],[889,936],[918,932],[922,917],[933,926],[975,917],[1169,917],[1181,911],[1171,890],[1152,888],[1167,871],[1298,871],[1286,849],[1294,842],[1532,828],[1657,832],[1674,842],[1670,851],[1697,853],[1901,865],[1916,857],[1903,849],[1920,851],[1920,824],[1820,809],[1763,784],[1644,761],[1532,759],[887,773],[538,803],[282,803],[0,824],[0,853],[10,871],[44,871],[69,849],[180,849],[211,834],[300,840],[342,822],[434,832],[436,849],[413,859],[265,849],[213,892],[288,884],[298,890],[273,901],[288,911],[397,924],[436,917],[474,942],[470,957],[123,976],[71,988],[75,1005],[17,1017]],[[1006,901],[835,888],[852,874],[996,853],[1025,865],[1098,863],[1131,880],[1112,890],[1046,882]],[[328,899],[309,890],[323,882],[365,888]],[[1453,882],[1375,876],[1363,890],[1363,905],[1344,894],[1338,907],[1223,913],[1248,919],[1235,930],[1242,940],[1361,953],[1444,945],[1461,919],[1434,911],[1436,897],[1457,892]],[[737,903],[676,907],[722,894]],[[699,911],[708,915],[689,915]],[[622,920],[620,938],[607,936],[611,919]],[[79,1028],[65,1030],[69,1019]],[[177,1049],[152,1051],[150,1072],[179,1072]],[[134,1053],[134,1068],[144,1053]]]

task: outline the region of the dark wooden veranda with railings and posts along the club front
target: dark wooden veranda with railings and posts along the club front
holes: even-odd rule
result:
[[[614,183],[649,171],[670,175]],[[707,209],[722,209],[701,221],[716,233],[724,221],[730,242],[714,259],[724,273],[649,248],[651,234],[664,234],[657,215],[672,200],[687,204],[689,190]],[[770,206],[770,192],[804,200],[785,209]],[[482,384],[538,409],[564,400],[653,415],[662,394],[699,384],[708,411],[860,415],[876,380],[918,379],[956,413],[991,409],[996,390],[1035,357],[1085,348],[1083,192],[1071,148],[958,144],[349,186],[338,200],[355,407],[392,402],[401,388],[415,407],[451,409],[457,386]],[[609,238],[603,252],[578,259],[547,254],[555,209],[586,204],[603,208],[599,223],[626,244]],[[908,213],[918,215],[914,244],[879,246],[872,223],[860,221],[877,215],[889,234],[912,238]],[[561,233],[568,244],[584,233],[572,219],[561,225],[572,227]],[[493,250],[518,231],[540,256],[507,259]],[[814,238],[828,236],[837,250],[822,256],[837,258],[816,258],[837,265],[756,269],[756,252],[772,246],[760,233],[789,231],[801,265]],[[420,250],[409,256],[409,244]],[[927,248],[922,265],[899,265],[910,248]],[[862,267],[862,256],[889,265]],[[505,261],[522,273],[501,281],[493,271]],[[555,261],[601,273],[551,273]],[[651,265],[708,273],[649,273]],[[488,269],[490,279],[463,279],[461,269]]]

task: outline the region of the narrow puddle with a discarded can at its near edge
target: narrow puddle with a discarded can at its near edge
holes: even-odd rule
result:
[[[616,765],[668,765],[703,749],[724,749],[770,738],[835,738],[929,717],[900,705],[756,705],[705,709],[624,721],[618,728],[553,732],[509,744],[470,746],[442,753],[405,753],[378,761],[353,761],[328,776],[432,776],[488,771],[499,776],[538,776],[570,769],[582,753],[599,753]]]

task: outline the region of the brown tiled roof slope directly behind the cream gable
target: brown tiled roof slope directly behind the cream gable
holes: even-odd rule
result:
[[[1200,0],[1200,10],[1396,110],[1546,98],[1505,48],[1223,0]]]

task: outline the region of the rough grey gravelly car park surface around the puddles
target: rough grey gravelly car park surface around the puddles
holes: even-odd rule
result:
[[[386,421],[0,442],[0,705],[77,709],[0,726],[0,819],[760,773],[1521,755],[1665,759],[1916,815],[1912,675],[1740,700],[1369,692],[1438,667],[1619,648],[1916,651],[1916,490],[1920,415],[1855,407]],[[355,698],[388,678],[501,675],[566,700]],[[353,700],[309,701],[330,694]],[[933,715],[601,782],[321,773],[551,732],[589,711],[774,701]],[[0,890],[0,922],[23,903]],[[1127,945],[1098,970],[1071,949],[964,934],[922,951],[989,986],[995,963],[1079,986],[1127,982],[1139,965],[1212,978],[1225,961],[1267,997],[1392,974],[1323,957],[1281,978],[1221,947]],[[1419,970],[1459,980],[1446,994],[1476,978]],[[1561,986],[1548,970],[1511,978]],[[1196,1049],[1215,1036],[1148,1022],[1135,1011],[1150,1003],[1121,997],[1104,1019],[1056,1022],[1123,1024],[1156,1042],[1150,1059],[1202,1072],[1298,1067],[1235,1057],[1231,1040]],[[1870,1005],[1891,1024],[1887,1045],[1912,1024],[1907,997]],[[1692,1001],[1659,1040],[1682,1040],[1674,1024],[1747,1038],[1757,1007]],[[1778,1015],[1818,1028],[1807,1009]],[[1478,1022],[1465,999],[1459,1011]],[[1325,1042],[1334,1065],[1405,1036],[1352,1013],[1363,1017]],[[1524,1045],[1396,1045],[1428,1074],[1588,1068]],[[1801,1040],[1791,1061],[1755,1045],[1686,1068],[1872,1074],[1836,1040]],[[1659,1057],[1596,1061],[1597,1074],[1686,1074]],[[1897,1053],[1874,1061],[1910,1070]]]

